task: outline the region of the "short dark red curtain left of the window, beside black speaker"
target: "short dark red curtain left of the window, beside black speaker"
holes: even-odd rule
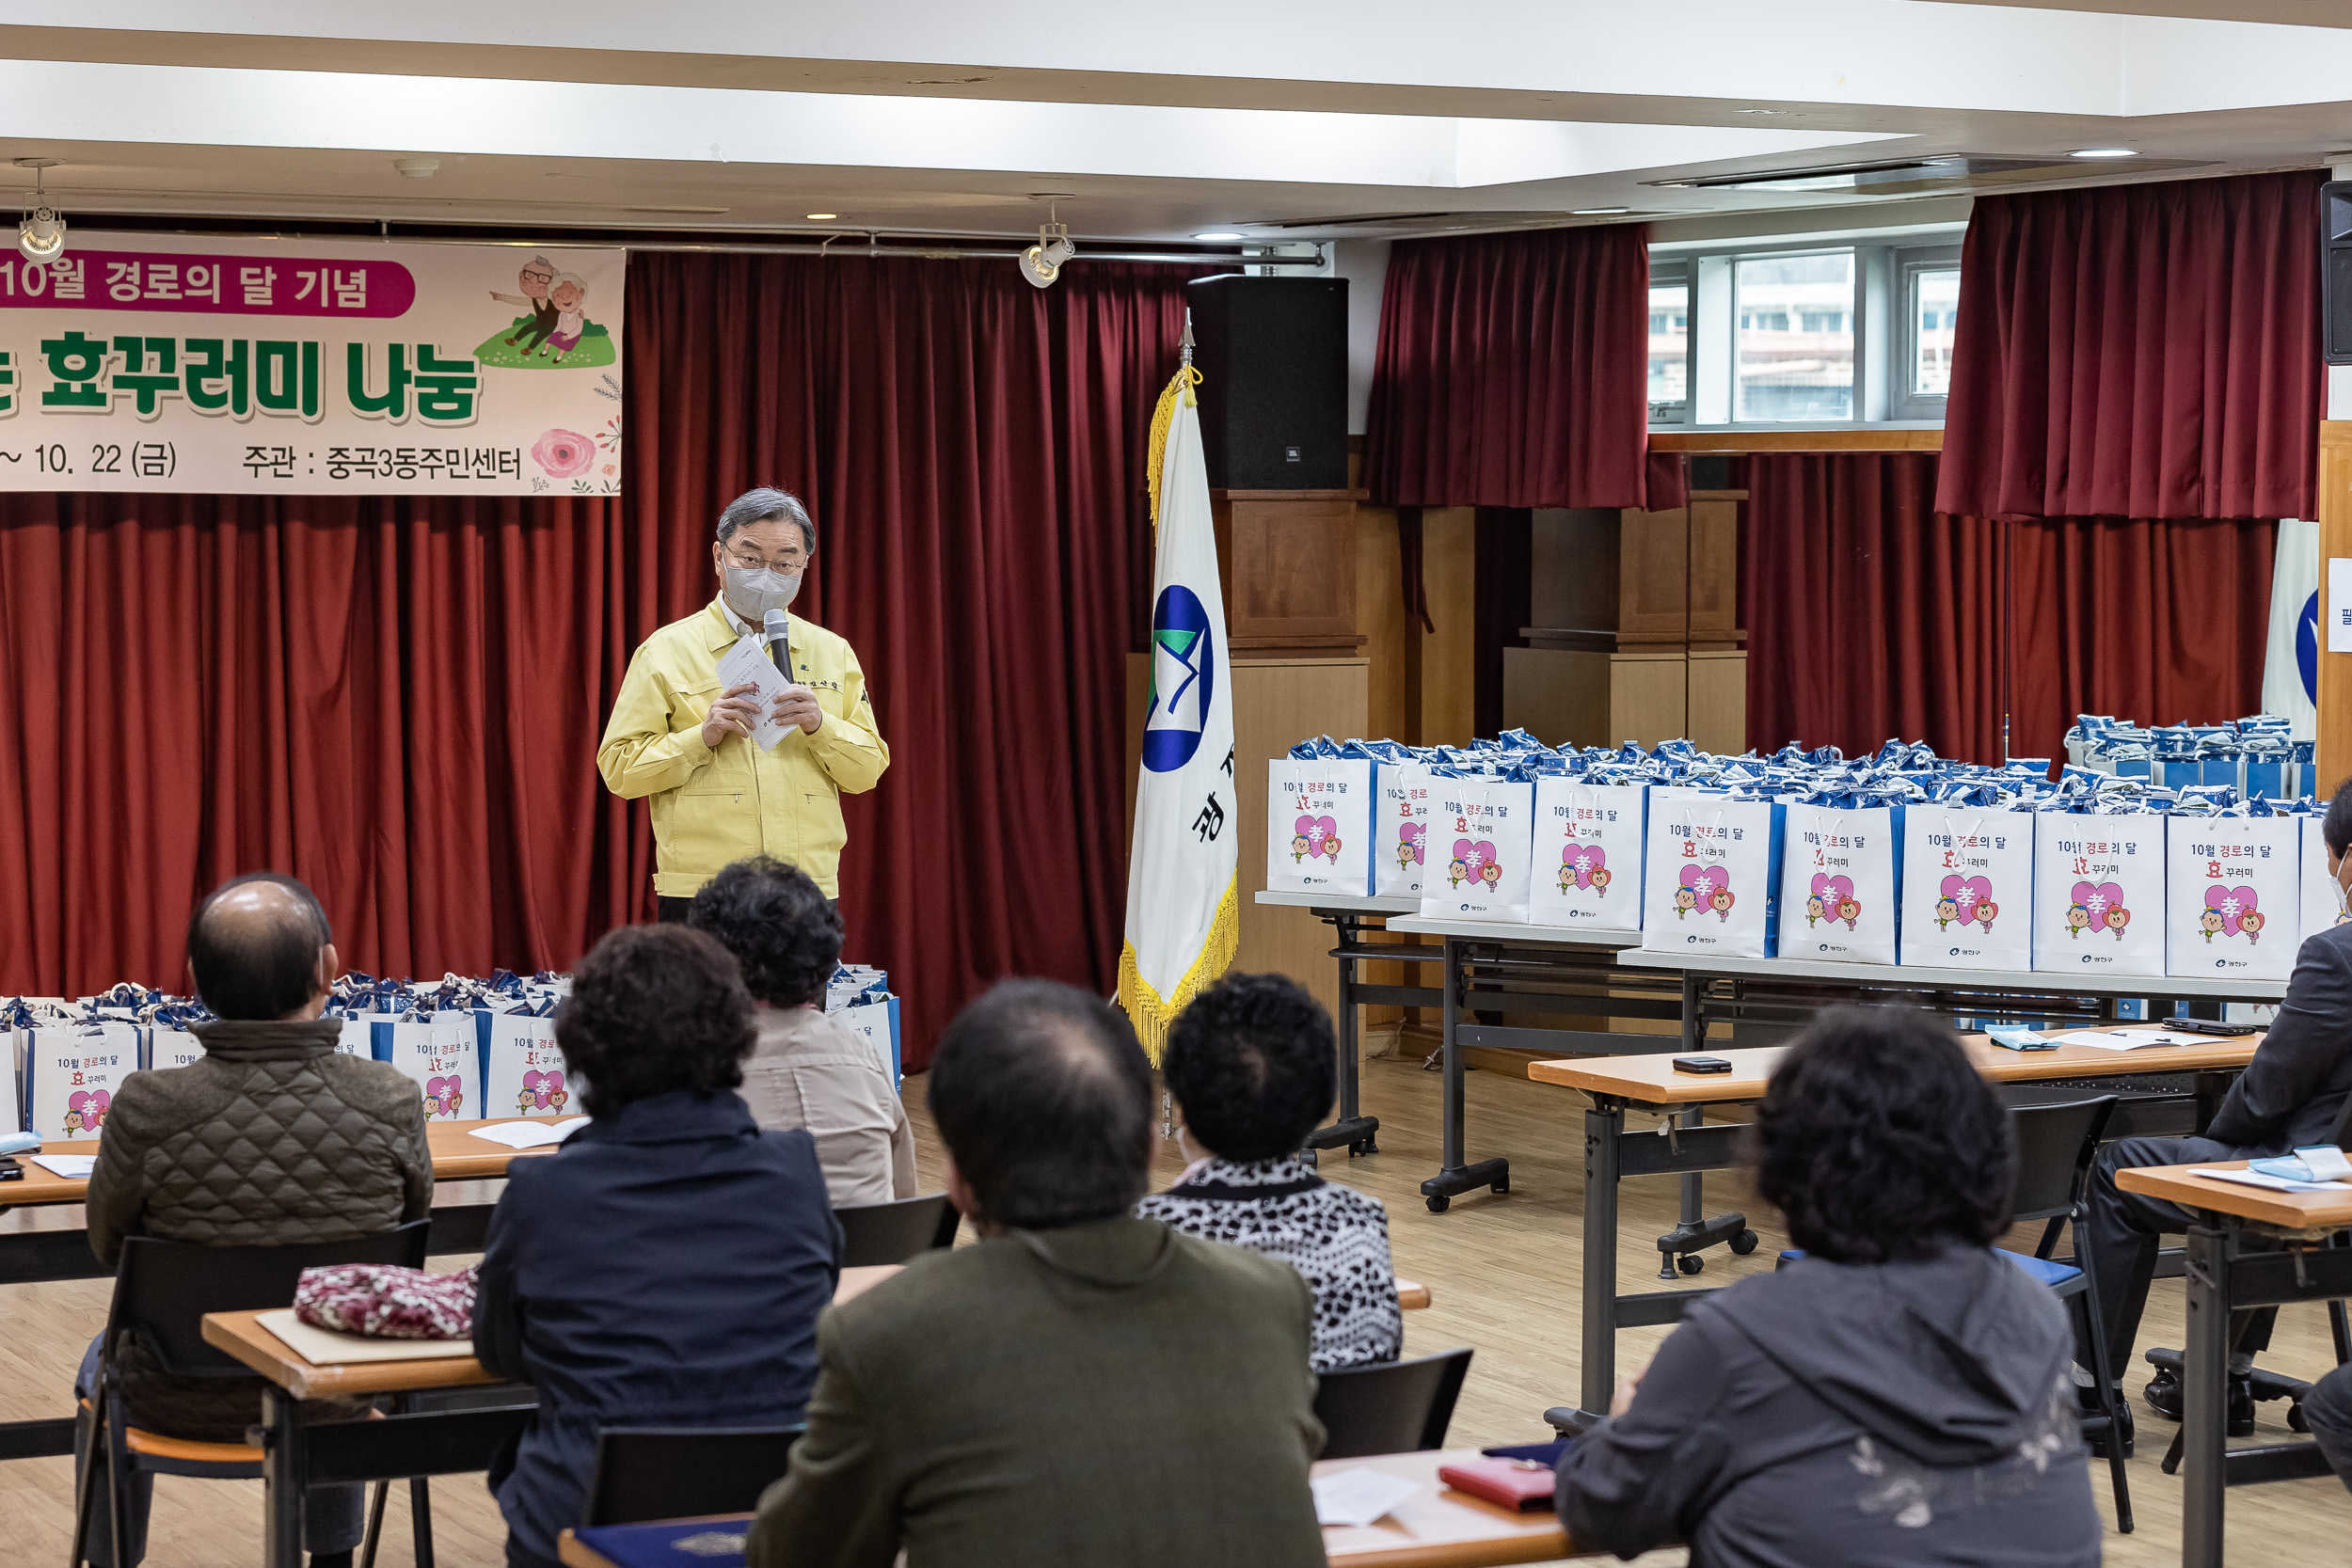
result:
[[[1374,501],[1644,505],[1646,449],[1649,228],[1390,249],[1364,428]]]

